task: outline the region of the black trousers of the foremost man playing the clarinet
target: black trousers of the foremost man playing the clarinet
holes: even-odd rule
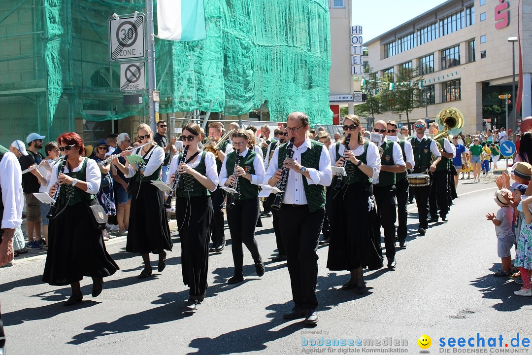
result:
[[[282,204],[279,227],[285,243],[286,262],[296,307],[316,309],[318,282],[318,240],[325,209],[310,212],[308,205]]]

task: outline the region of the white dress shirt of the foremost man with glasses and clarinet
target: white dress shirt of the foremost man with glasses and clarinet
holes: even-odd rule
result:
[[[307,137],[302,145],[299,147],[294,146],[294,156],[292,159],[301,164],[301,154],[311,148],[310,139]],[[321,147],[318,147],[320,149]],[[269,181],[278,169],[279,162],[279,150],[276,149],[271,157],[271,163],[264,176],[264,181]],[[281,167],[282,168],[282,167]],[[286,183],[286,191],[282,199],[283,203],[287,204],[307,204],[305,190],[303,187],[303,179],[307,179],[309,185],[322,185],[329,186],[332,181],[331,159],[327,148],[323,146],[321,148],[320,155],[320,168],[319,170],[314,168],[305,167],[312,179],[307,179],[305,176],[289,169],[288,180]]]

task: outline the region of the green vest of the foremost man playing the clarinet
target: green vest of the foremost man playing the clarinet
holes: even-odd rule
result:
[[[288,142],[279,147],[279,159],[277,166],[282,167],[282,162],[286,158],[286,145]],[[311,148],[301,154],[301,165],[305,168],[320,169],[320,156],[323,150],[323,144],[310,139]],[[292,173],[290,173],[292,174]],[[325,206],[325,186],[309,185],[306,178],[303,179],[306,202],[309,205],[309,211],[314,212]]]

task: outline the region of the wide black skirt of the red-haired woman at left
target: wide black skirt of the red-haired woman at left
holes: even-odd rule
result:
[[[107,277],[118,265],[105,250],[102,231],[93,226],[87,203],[59,205],[50,220],[50,243],[46,255],[43,282],[64,286],[84,276]]]

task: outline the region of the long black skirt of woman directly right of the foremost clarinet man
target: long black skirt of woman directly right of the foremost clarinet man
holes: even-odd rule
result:
[[[349,271],[362,266],[380,269],[383,258],[372,229],[375,209],[368,211],[370,192],[361,183],[353,183],[334,191],[332,196],[327,268]]]

